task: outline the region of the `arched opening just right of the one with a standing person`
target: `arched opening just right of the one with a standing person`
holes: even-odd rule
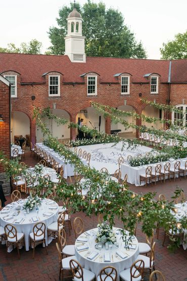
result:
[[[122,111],[131,111],[135,113],[135,109],[130,105],[120,105],[117,107],[117,109]],[[123,118],[125,121],[135,125],[135,119],[133,116],[125,116]],[[135,129],[133,128],[126,129],[121,123],[117,123],[117,124],[111,123],[111,130],[121,130],[121,132],[119,132],[119,136],[121,137],[135,138]]]

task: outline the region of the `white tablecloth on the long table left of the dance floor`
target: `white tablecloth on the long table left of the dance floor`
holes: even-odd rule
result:
[[[74,166],[71,164],[65,164],[65,158],[55,152],[53,149],[49,148],[48,146],[43,145],[42,143],[36,143],[36,146],[46,152],[48,155],[51,155],[57,163],[63,166],[64,169],[64,178],[67,179],[69,176],[74,176]],[[80,158],[84,165],[87,165],[85,159]]]

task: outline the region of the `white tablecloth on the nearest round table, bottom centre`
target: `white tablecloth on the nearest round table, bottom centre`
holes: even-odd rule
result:
[[[118,228],[114,228],[114,229],[118,229]],[[94,231],[97,232],[97,228],[93,229]],[[90,230],[89,230],[90,233]],[[94,258],[93,260],[88,259],[87,257],[85,257],[85,255],[89,252],[100,252],[99,250],[95,249],[95,238],[92,237],[92,247],[89,247],[89,249],[87,251],[83,251],[83,252],[79,252],[77,251],[77,246],[80,246],[81,244],[78,243],[78,239],[79,237],[86,237],[86,233],[84,232],[83,234],[81,234],[75,242],[75,256],[77,258],[77,261],[81,264],[82,267],[91,270],[92,272],[94,272],[96,274],[96,278],[97,276],[100,274],[100,271],[102,268],[104,268],[105,266],[114,266],[117,270],[118,273],[118,280],[119,280],[119,273],[120,271],[129,268],[132,263],[135,261],[137,255],[139,254],[139,250],[138,250],[138,242],[137,239],[134,237],[134,239],[132,239],[132,244],[133,246],[135,245],[135,250],[126,250],[124,248],[124,242],[122,242],[122,239],[120,239],[121,234],[117,235],[117,241],[119,241],[119,249],[116,249],[116,247],[113,245],[112,250],[111,250],[111,262],[104,262],[104,259],[102,259],[102,261],[100,261],[100,258],[98,255],[98,258]],[[90,236],[89,236],[90,237]],[[89,245],[89,243],[87,243],[87,245]],[[120,257],[117,258],[116,257],[116,252],[117,251],[122,251],[123,254],[126,254],[127,257],[125,259],[121,259]],[[104,254],[106,253],[110,253],[110,250],[106,251],[105,246],[103,247],[103,249],[101,250],[101,255],[102,257],[104,256]]]

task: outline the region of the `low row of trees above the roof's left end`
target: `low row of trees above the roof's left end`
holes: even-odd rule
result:
[[[20,44],[20,48],[17,48],[15,44],[8,44],[8,48],[1,48],[0,53],[22,53],[22,54],[40,54],[42,43],[36,39],[32,39],[28,44],[23,42]]]

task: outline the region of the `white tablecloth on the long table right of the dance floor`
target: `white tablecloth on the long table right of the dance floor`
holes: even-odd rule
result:
[[[185,165],[185,162],[187,160],[187,158],[182,158],[182,159],[178,159],[180,161],[180,165],[181,166],[184,166]],[[171,168],[174,168],[174,164],[177,160],[174,160],[173,162],[170,162],[170,169]],[[144,166],[137,166],[137,167],[131,167],[129,164],[127,163],[123,163],[121,164],[121,179],[124,179],[124,176],[127,174],[128,178],[127,178],[127,182],[128,183],[131,183],[131,184],[135,184],[135,186],[140,186],[140,185],[145,185],[145,182],[142,181],[141,184],[140,184],[140,181],[139,181],[139,176],[141,174],[145,174],[146,173],[146,168],[148,166],[151,166],[152,167],[152,173],[154,174],[155,172],[155,167],[158,165],[158,164],[161,164],[162,165],[162,169],[164,169],[164,165],[166,164],[167,162],[162,162],[162,163],[155,163],[155,164],[150,164],[150,165],[144,165]]]

